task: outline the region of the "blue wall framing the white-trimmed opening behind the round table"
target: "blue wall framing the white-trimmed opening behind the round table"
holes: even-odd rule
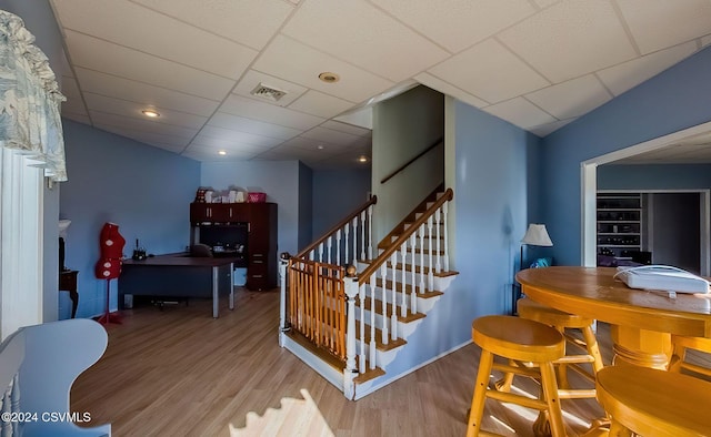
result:
[[[543,140],[543,221],[558,264],[581,264],[580,163],[711,120],[707,48]]]

